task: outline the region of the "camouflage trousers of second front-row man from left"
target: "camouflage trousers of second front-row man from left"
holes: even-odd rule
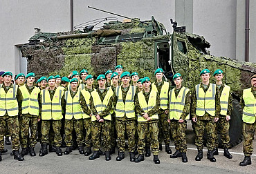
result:
[[[28,143],[30,148],[35,148],[35,144],[37,144],[37,117],[28,117],[28,115],[22,115],[19,125],[21,130],[21,148],[27,148]]]

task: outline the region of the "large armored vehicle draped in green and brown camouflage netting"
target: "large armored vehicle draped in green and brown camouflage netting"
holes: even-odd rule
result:
[[[102,22],[103,26],[94,29],[95,24]],[[37,77],[67,76],[72,70],[84,68],[96,77],[122,64],[125,71],[136,71],[140,77],[154,78],[154,70],[163,68],[168,81],[172,81],[176,72],[181,72],[183,85],[193,88],[200,82],[202,69],[214,72],[220,68],[224,72],[223,82],[231,87],[233,97],[230,145],[239,144],[242,139],[239,97],[241,90],[250,86],[256,64],[214,57],[207,50],[210,43],[204,37],[185,32],[185,26],[178,27],[172,20],[171,23],[172,34],[154,17],[148,21],[96,19],[75,26],[71,32],[37,31],[21,52],[28,59],[28,72],[35,72]],[[214,83],[213,77],[211,82]]]

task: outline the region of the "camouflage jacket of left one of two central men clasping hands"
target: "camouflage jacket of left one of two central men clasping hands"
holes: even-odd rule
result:
[[[100,92],[100,89],[97,89],[97,93],[100,96],[101,101],[104,100],[104,97],[107,95],[107,89],[104,89],[103,93]],[[93,97],[90,98],[90,107],[91,107],[91,112],[93,113],[93,115],[98,115],[98,112],[93,104]],[[109,99],[109,104],[107,104],[107,107],[105,108],[105,110],[102,111],[102,113],[100,113],[100,118],[103,118],[107,115],[109,115],[110,110],[112,108],[112,97]]]

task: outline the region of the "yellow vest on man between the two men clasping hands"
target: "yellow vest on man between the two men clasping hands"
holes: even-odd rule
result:
[[[118,102],[116,104],[116,117],[124,117],[126,115],[127,118],[135,117],[135,106],[134,106],[134,96],[135,96],[136,88],[135,86],[129,86],[129,90],[127,91],[127,95],[124,101],[122,101],[122,89],[121,86],[116,88],[116,96],[118,97]]]

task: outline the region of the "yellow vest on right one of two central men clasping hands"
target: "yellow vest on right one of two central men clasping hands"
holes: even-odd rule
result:
[[[138,93],[138,102],[140,104],[140,108],[142,108],[145,113],[148,113],[150,110],[152,110],[152,108],[154,108],[154,106],[156,106],[156,96],[157,92],[155,90],[151,90],[147,104],[145,96],[143,95],[143,91]],[[152,115],[151,119],[158,119],[158,114],[156,113]],[[138,114],[138,122],[147,122],[147,119]]]

